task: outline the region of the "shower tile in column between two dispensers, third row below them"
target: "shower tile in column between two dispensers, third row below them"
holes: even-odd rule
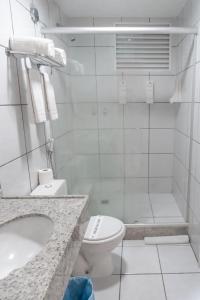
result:
[[[126,177],[148,177],[148,155],[127,154],[125,156]]]

